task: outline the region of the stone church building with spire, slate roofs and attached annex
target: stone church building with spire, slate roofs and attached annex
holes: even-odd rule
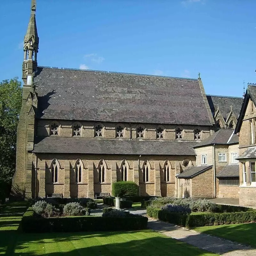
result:
[[[131,180],[142,196],[238,197],[243,98],[206,95],[200,76],[41,67],[38,49],[32,0],[13,194],[94,198]]]

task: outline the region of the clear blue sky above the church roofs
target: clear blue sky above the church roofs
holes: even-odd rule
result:
[[[256,83],[256,1],[37,0],[38,65]],[[30,0],[0,1],[0,81],[21,77]]]

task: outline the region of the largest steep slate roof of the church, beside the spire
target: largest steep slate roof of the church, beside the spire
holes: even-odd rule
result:
[[[212,125],[197,79],[38,67],[37,118]]]

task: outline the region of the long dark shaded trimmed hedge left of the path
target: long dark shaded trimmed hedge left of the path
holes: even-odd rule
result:
[[[37,217],[31,207],[21,220],[22,231],[28,233],[140,230],[146,229],[147,224],[147,217],[134,214],[125,218],[83,216],[46,219]]]

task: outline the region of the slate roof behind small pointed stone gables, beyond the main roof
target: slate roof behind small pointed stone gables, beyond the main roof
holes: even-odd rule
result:
[[[215,115],[215,112],[217,111],[217,108],[219,106],[220,112],[225,120],[230,112],[231,105],[232,105],[233,112],[236,115],[236,118],[238,118],[238,115],[240,113],[240,109],[242,107],[243,100],[244,100],[244,98],[239,98],[239,97],[214,96],[214,95],[206,95],[206,98],[209,102],[212,115],[213,116]]]

